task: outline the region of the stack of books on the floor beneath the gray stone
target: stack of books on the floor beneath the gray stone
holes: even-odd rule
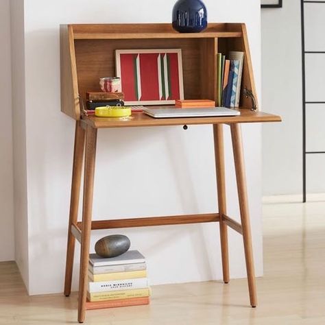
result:
[[[87,309],[149,304],[145,257],[129,250],[112,258],[89,255]]]

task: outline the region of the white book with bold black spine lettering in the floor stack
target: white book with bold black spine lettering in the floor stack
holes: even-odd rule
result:
[[[118,291],[130,289],[145,289],[149,287],[147,278],[130,280],[114,280],[103,282],[88,282],[88,292]]]

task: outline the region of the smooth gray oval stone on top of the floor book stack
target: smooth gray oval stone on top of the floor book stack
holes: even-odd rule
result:
[[[130,245],[130,239],[124,234],[111,234],[97,241],[95,252],[101,257],[115,257],[125,253]]]

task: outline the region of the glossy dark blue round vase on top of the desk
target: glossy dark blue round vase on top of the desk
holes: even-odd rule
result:
[[[206,29],[208,17],[201,0],[178,0],[173,6],[173,29],[180,33],[198,33]]]

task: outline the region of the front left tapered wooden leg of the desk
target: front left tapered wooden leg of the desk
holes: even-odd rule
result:
[[[86,153],[84,160],[84,201],[82,207],[82,238],[80,254],[80,280],[78,322],[84,322],[86,312],[86,292],[89,261],[89,245],[91,241],[91,217],[93,212],[93,189],[95,175],[97,129],[87,126]]]

